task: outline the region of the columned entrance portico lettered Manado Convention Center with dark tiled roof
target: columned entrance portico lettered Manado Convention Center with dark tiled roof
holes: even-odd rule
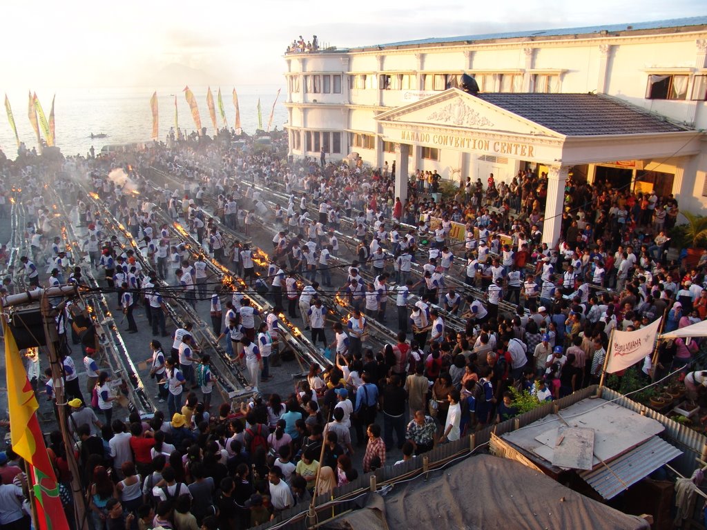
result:
[[[568,171],[611,160],[684,160],[700,152],[701,132],[665,121],[603,95],[490,93],[450,88],[376,117],[382,138],[396,144],[395,194],[407,199],[409,146],[491,155],[548,167],[542,241],[561,236]],[[677,178],[677,175],[676,175]],[[679,189],[679,186],[678,188]]]

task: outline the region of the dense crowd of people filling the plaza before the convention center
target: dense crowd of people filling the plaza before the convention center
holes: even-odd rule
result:
[[[664,317],[670,331],[707,315],[707,254],[691,269],[667,261],[665,234],[678,213],[672,196],[571,178],[561,240],[547,245],[547,176],[530,167],[510,182],[466,179],[444,197],[438,173],[417,170],[403,203],[387,165],[294,161],[192,137],[151,146],[132,162],[126,172],[133,188],[102,174],[122,160],[66,165],[89,175],[88,187],[140,242],[147,269],[103,226],[103,213],[90,208],[76,181],[56,183],[76,199],[78,223],[88,232],[83,250],[105,272],[107,292],[126,314],[125,331],[136,330],[132,314],[140,303],[148,315],[155,337],[150,375],[167,406],[166,415],[157,411],[150,421],[114,419],[110,374],[95,365],[100,344],[93,338],[76,337],[90,376],[88,401],[71,382],[71,355],[64,355],[65,381],[47,382],[49,397],[52,385],[65,385],[76,440],[67,448],[52,432],[52,459],[66,484],[67,451],[78,455],[94,530],[241,529],[290,507],[305,510],[312,495],[331,495],[358,470],[392,464],[386,456],[395,447],[404,462],[513,418],[518,393],[550,401],[598,382],[612,329],[631,331]],[[35,191],[28,195],[32,255],[23,257],[21,273],[38,285],[42,267],[35,263],[49,263],[47,285],[80,283],[81,269],[66,268],[66,249],[50,237],[56,227],[43,206],[43,175],[27,167],[10,170],[25,171]],[[184,179],[183,189],[153,190],[141,177],[149,167]],[[277,189],[285,199],[271,208],[273,197],[261,189]],[[243,237],[233,240],[205,210]],[[246,289],[215,285],[203,259],[174,244],[159,213],[182,223],[214,259],[270,298],[273,311],[259,314]],[[271,260],[259,265],[245,241],[262,237],[256,226],[263,221],[277,233]],[[450,237],[452,223],[464,225],[462,239]],[[160,290],[160,279],[173,290]],[[4,281],[4,289],[14,288],[12,278]],[[209,303],[214,334],[243,362],[256,393],[237,410],[211,406],[210,359],[189,324],[171,335],[169,352],[158,341],[170,336],[165,298],[182,291],[195,307]],[[329,326],[334,298],[350,314]],[[71,307],[61,309],[68,322],[80,318]],[[284,398],[265,392],[280,312],[301,318],[312,343],[332,358],[325,368],[312,364]],[[397,341],[371,348],[372,321],[390,327]],[[73,330],[69,325],[64,335]],[[660,348],[657,365],[646,358],[631,370],[646,382],[688,372],[698,346],[676,339]],[[21,499],[21,484],[14,486]]]

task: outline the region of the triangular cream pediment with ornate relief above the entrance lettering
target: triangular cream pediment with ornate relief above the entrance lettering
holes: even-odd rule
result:
[[[443,126],[450,129],[476,129],[513,135],[563,138],[528,119],[496,107],[457,88],[378,114],[375,119],[383,124]]]

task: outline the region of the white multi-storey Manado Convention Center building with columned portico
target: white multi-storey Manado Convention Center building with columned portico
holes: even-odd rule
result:
[[[707,16],[394,42],[285,55],[289,152],[358,153],[457,182],[547,172],[655,189],[707,213]],[[479,93],[460,90],[462,74]]]

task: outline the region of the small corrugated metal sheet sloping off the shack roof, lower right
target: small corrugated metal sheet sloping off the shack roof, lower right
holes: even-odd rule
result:
[[[682,454],[665,440],[654,436],[632,451],[601,465],[594,471],[582,471],[582,477],[604,499],[612,499],[631,484],[635,484],[663,464]]]

